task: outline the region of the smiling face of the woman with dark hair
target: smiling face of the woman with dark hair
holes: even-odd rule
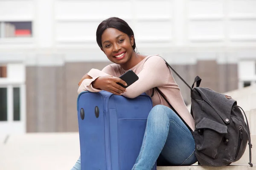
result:
[[[116,28],[107,28],[102,34],[102,51],[111,62],[123,65],[134,53],[134,37]]]

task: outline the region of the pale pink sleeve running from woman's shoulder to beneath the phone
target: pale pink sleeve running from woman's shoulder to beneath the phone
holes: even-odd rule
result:
[[[137,76],[139,79],[126,89],[123,96],[135,98],[151,88],[165,85],[169,80],[170,70],[161,57],[152,56],[145,61]]]

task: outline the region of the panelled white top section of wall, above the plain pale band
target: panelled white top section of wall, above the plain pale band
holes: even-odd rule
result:
[[[112,16],[133,28],[138,47],[254,47],[255,0],[0,0],[0,21],[32,21],[34,37],[6,48],[97,48]]]

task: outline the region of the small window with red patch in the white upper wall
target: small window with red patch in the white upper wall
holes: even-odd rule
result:
[[[1,22],[0,38],[32,37],[32,22]]]

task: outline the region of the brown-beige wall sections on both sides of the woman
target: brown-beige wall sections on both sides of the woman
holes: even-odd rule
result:
[[[78,131],[76,99],[78,82],[91,68],[102,69],[110,62],[68,62],[63,66],[26,67],[27,132]],[[197,65],[174,65],[189,85],[195,76],[202,78],[201,87],[218,92],[238,88],[236,64],[218,65],[215,60],[198,61]],[[189,88],[173,73],[186,103]]]

